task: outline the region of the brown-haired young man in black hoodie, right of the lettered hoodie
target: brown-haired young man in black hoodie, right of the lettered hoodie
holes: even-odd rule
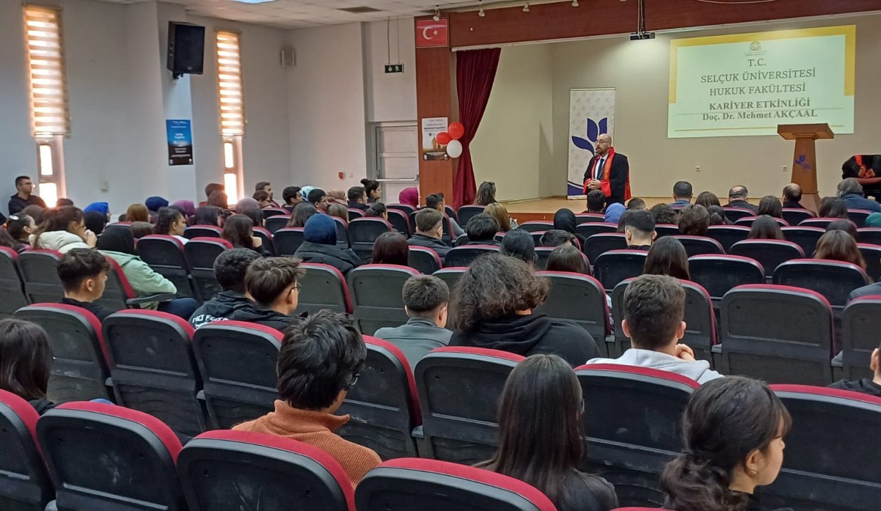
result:
[[[292,315],[297,310],[302,277],[300,259],[293,257],[263,257],[248,266],[245,288],[254,299],[253,307],[241,307],[233,311],[230,321],[252,322],[276,330],[285,329],[299,318]]]

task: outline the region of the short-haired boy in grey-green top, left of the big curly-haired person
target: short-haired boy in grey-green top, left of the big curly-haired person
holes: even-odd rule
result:
[[[453,332],[447,330],[447,283],[432,275],[417,275],[403,283],[403,310],[410,319],[399,327],[376,330],[379,337],[395,344],[412,369],[427,352],[449,344]]]

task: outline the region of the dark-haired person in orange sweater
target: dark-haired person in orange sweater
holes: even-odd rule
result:
[[[233,426],[236,431],[278,434],[320,448],[342,465],[352,487],[379,455],[334,433],[349,421],[334,415],[358,381],[366,359],[364,338],[344,314],[322,310],[285,330],[278,352],[275,411]]]

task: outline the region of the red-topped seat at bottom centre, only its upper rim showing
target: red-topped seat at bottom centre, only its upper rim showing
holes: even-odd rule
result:
[[[555,511],[544,493],[526,483],[456,463],[400,458],[367,472],[355,490],[359,511],[414,509],[497,509]]]

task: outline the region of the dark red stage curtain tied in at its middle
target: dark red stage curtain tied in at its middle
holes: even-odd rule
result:
[[[462,156],[453,182],[453,204],[458,208],[474,202],[477,186],[474,183],[474,166],[471,164],[470,144],[478,132],[484,116],[486,103],[490,100],[492,82],[499,68],[501,48],[476,49],[455,53],[455,85],[459,93],[459,122],[465,125]]]

